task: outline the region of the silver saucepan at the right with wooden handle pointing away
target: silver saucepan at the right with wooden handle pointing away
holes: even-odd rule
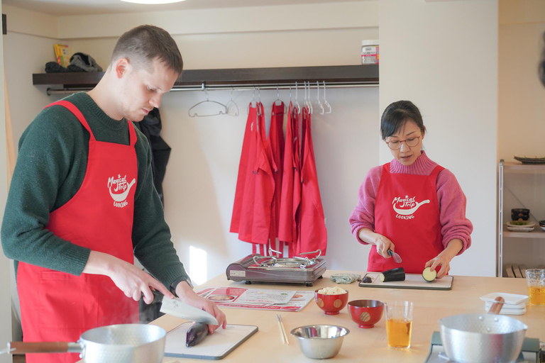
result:
[[[509,316],[497,315],[503,298],[496,298],[496,301],[488,314],[452,315],[439,320],[441,340],[448,359],[459,363],[508,363],[517,360],[528,326]]]

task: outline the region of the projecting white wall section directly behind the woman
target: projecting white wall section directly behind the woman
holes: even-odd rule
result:
[[[468,199],[473,245],[451,273],[495,276],[497,1],[381,0],[379,23],[380,112],[413,101],[429,157]],[[391,158],[380,143],[380,162]]]

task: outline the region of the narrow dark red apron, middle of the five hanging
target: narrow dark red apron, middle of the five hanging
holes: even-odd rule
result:
[[[282,162],[284,155],[284,102],[277,105],[276,102],[272,104],[270,112],[270,126],[269,126],[269,146],[272,155],[272,162],[277,166],[277,171],[274,173],[275,177],[275,193],[272,199],[271,218],[270,218],[270,244],[274,246],[274,249],[282,252],[284,249],[283,243],[280,242],[276,245],[276,238],[278,237],[278,224],[280,219],[280,202],[282,200]]]

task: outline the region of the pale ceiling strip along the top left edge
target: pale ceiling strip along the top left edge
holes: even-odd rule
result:
[[[362,1],[362,0],[343,0]],[[186,0],[176,4],[142,5],[120,0],[1,0],[3,5],[48,13],[55,16],[101,13],[133,13],[138,11],[172,11],[189,9],[238,8],[292,4],[324,4],[335,0]]]

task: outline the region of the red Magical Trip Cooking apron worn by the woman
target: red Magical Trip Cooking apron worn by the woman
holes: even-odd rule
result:
[[[407,274],[422,274],[426,262],[444,250],[436,191],[437,174],[443,169],[438,165],[430,175],[390,174],[390,163],[384,164],[375,202],[375,232],[393,242],[403,261],[385,259],[373,245],[368,271],[403,267]]]

